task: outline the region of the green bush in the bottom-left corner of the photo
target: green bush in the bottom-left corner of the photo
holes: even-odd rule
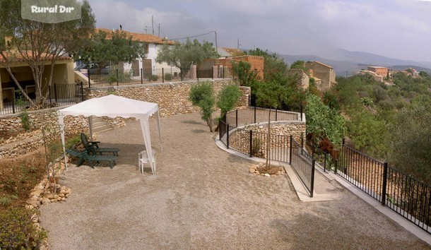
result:
[[[47,237],[37,230],[32,218],[36,210],[9,208],[0,213],[0,247],[2,249],[39,249]]]

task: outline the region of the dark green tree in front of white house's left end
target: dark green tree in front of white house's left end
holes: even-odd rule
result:
[[[145,46],[141,42],[132,40],[122,30],[105,32],[97,30],[92,37],[85,39],[85,45],[76,48],[74,57],[83,61],[93,61],[98,64],[98,71],[110,64],[120,61],[131,62],[146,56]]]

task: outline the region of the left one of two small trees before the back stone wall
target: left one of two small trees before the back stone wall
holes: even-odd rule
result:
[[[189,93],[190,102],[201,108],[203,121],[206,121],[210,131],[213,132],[213,107],[215,104],[213,85],[208,82],[191,86]]]

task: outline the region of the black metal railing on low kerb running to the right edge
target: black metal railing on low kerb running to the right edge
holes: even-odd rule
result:
[[[334,172],[431,234],[431,187],[343,143]]]

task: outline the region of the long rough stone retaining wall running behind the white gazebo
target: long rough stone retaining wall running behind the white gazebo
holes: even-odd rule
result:
[[[197,83],[197,81],[189,81],[88,89],[86,98],[102,97],[113,93],[135,100],[157,102],[159,104],[160,116],[169,117],[175,114],[187,114],[199,111],[199,108],[194,107],[189,102],[191,85]],[[215,95],[218,94],[223,85],[235,84],[232,80],[212,81],[212,83]],[[238,101],[237,107],[247,107],[251,89],[249,87],[241,87],[241,91],[242,97]],[[57,110],[61,108],[63,107],[28,112],[30,127],[32,128],[28,132],[23,130],[19,114],[0,117],[0,136],[1,132],[13,135],[0,141],[0,160],[6,157],[23,155],[42,147],[42,125],[45,126],[47,131],[48,141],[59,138]],[[104,117],[104,119],[112,127],[124,126],[124,121],[126,120],[122,118],[110,119],[107,117]],[[88,119],[83,116],[64,117],[64,126],[66,136],[81,132],[88,133]]]

